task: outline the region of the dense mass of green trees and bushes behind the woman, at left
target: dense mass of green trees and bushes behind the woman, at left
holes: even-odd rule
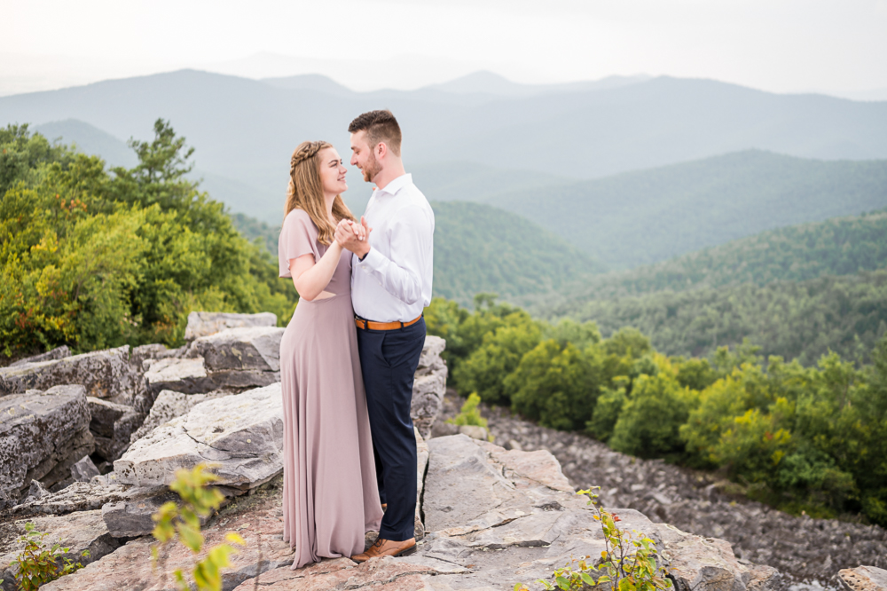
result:
[[[182,342],[193,310],[292,315],[271,256],[184,175],[167,122],[106,169],[27,125],[0,129],[0,355]]]

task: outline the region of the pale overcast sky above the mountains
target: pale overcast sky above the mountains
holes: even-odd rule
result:
[[[317,72],[357,90],[478,69],[887,89],[887,0],[0,0],[0,14],[0,94],[181,67]]]

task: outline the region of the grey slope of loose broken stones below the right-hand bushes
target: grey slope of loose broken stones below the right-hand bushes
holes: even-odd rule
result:
[[[448,394],[444,402],[436,431],[459,412],[463,400]],[[522,421],[506,409],[482,405],[480,410],[496,444],[549,450],[571,485],[599,485],[605,505],[635,508],[685,532],[727,540],[737,558],[772,566],[789,582],[817,580],[821,587],[833,587],[840,569],[887,566],[887,531],[876,525],[792,516],[730,494],[729,483],[714,475],[633,458],[590,437]]]

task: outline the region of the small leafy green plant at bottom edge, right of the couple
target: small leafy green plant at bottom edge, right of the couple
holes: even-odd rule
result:
[[[600,523],[604,533],[604,549],[600,559],[592,556],[574,558],[563,568],[555,569],[553,581],[538,579],[547,591],[561,589],[586,589],[600,587],[618,591],[660,591],[671,589],[663,566],[657,564],[658,553],[655,542],[642,532],[626,532],[616,523],[619,517],[600,507],[599,486],[594,486],[585,494],[588,504],[593,506],[594,519]],[[575,566],[574,566],[575,565]],[[514,591],[529,591],[522,583],[514,586]]]

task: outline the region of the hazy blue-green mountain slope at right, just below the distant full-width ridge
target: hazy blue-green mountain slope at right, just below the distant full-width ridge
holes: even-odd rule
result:
[[[486,201],[630,269],[785,225],[887,206],[887,161],[748,151]]]

